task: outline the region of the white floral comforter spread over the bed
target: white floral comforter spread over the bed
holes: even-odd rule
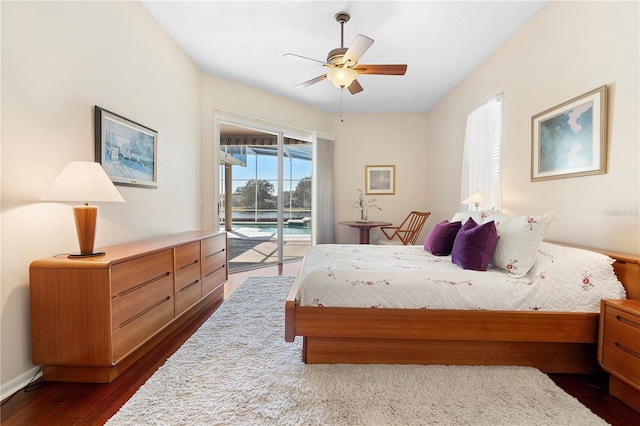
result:
[[[598,312],[624,299],[613,260],[541,243],[529,273],[463,270],[422,246],[317,245],[301,271],[301,306]]]

